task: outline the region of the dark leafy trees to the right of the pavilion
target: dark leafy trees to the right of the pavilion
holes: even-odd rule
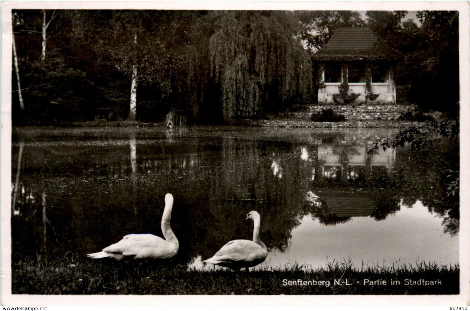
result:
[[[458,12],[420,11],[416,15],[420,26],[412,20],[402,21],[405,14],[403,11],[366,14],[368,27],[404,55],[396,65],[395,80],[398,86],[409,85],[409,91],[407,99],[397,94],[397,100],[411,101],[422,109],[458,111]]]

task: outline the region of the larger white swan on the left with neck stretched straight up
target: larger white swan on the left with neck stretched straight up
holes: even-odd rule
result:
[[[165,209],[162,216],[162,232],[165,239],[151,234],[125,235],[118,243],[112,244],[102,251],[86,256],[90,258],[110,257],[121,260],[133,256],[133,259],[166,259],[176,255],[180,244],[170,228],[172,217],[173,196],[165,195]]]

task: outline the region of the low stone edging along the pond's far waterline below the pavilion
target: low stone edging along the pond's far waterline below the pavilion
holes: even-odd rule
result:
[[[312,122],[312,121],[279,121],[279,120],[251,120],[236,119],[233,125],[265,126],[279,128],[385,128],[398,129],[410,125],[419,126],[421,122],[393,122],[393,121],[344,121],[344,122]]]

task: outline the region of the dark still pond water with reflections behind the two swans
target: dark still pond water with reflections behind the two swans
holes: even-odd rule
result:
[[[458,263],[458,146],[367,154],[390,131],[250,127],[16,128],[12,256],[99,251],[129,233],[162,235],[174,196],[176,260],[202,266],[261,215],[266,265],[351,258]],[[18,166],[19,164],[19,166]],[[454,173],[455,172],[455,173]]]

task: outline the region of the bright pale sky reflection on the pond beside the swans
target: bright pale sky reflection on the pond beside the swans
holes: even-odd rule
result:
[[[351,258],[356,267],[364,265],[414,264],[418,258],[424,262],[458,262],[458,239],[444,235],[440,220],[430,217],[426,226],[422,215],[427,212],[421,202],[412,208],[404,208],[388,221],[375,221],[370,217],[354,217],[336,226],[325,226],[321,220],[308,215],[292,230],[289,253],[272,250],[266,261],[271,266],[283,266],[290,262],[305,262],[317,267],[333,259]],[[406,228],[406,230],[397,230]],[[305,247],[305,240],[309,247]],[[354,247],[351,247],[354,245]],[[434,252],[427,252],[433,248]]]

